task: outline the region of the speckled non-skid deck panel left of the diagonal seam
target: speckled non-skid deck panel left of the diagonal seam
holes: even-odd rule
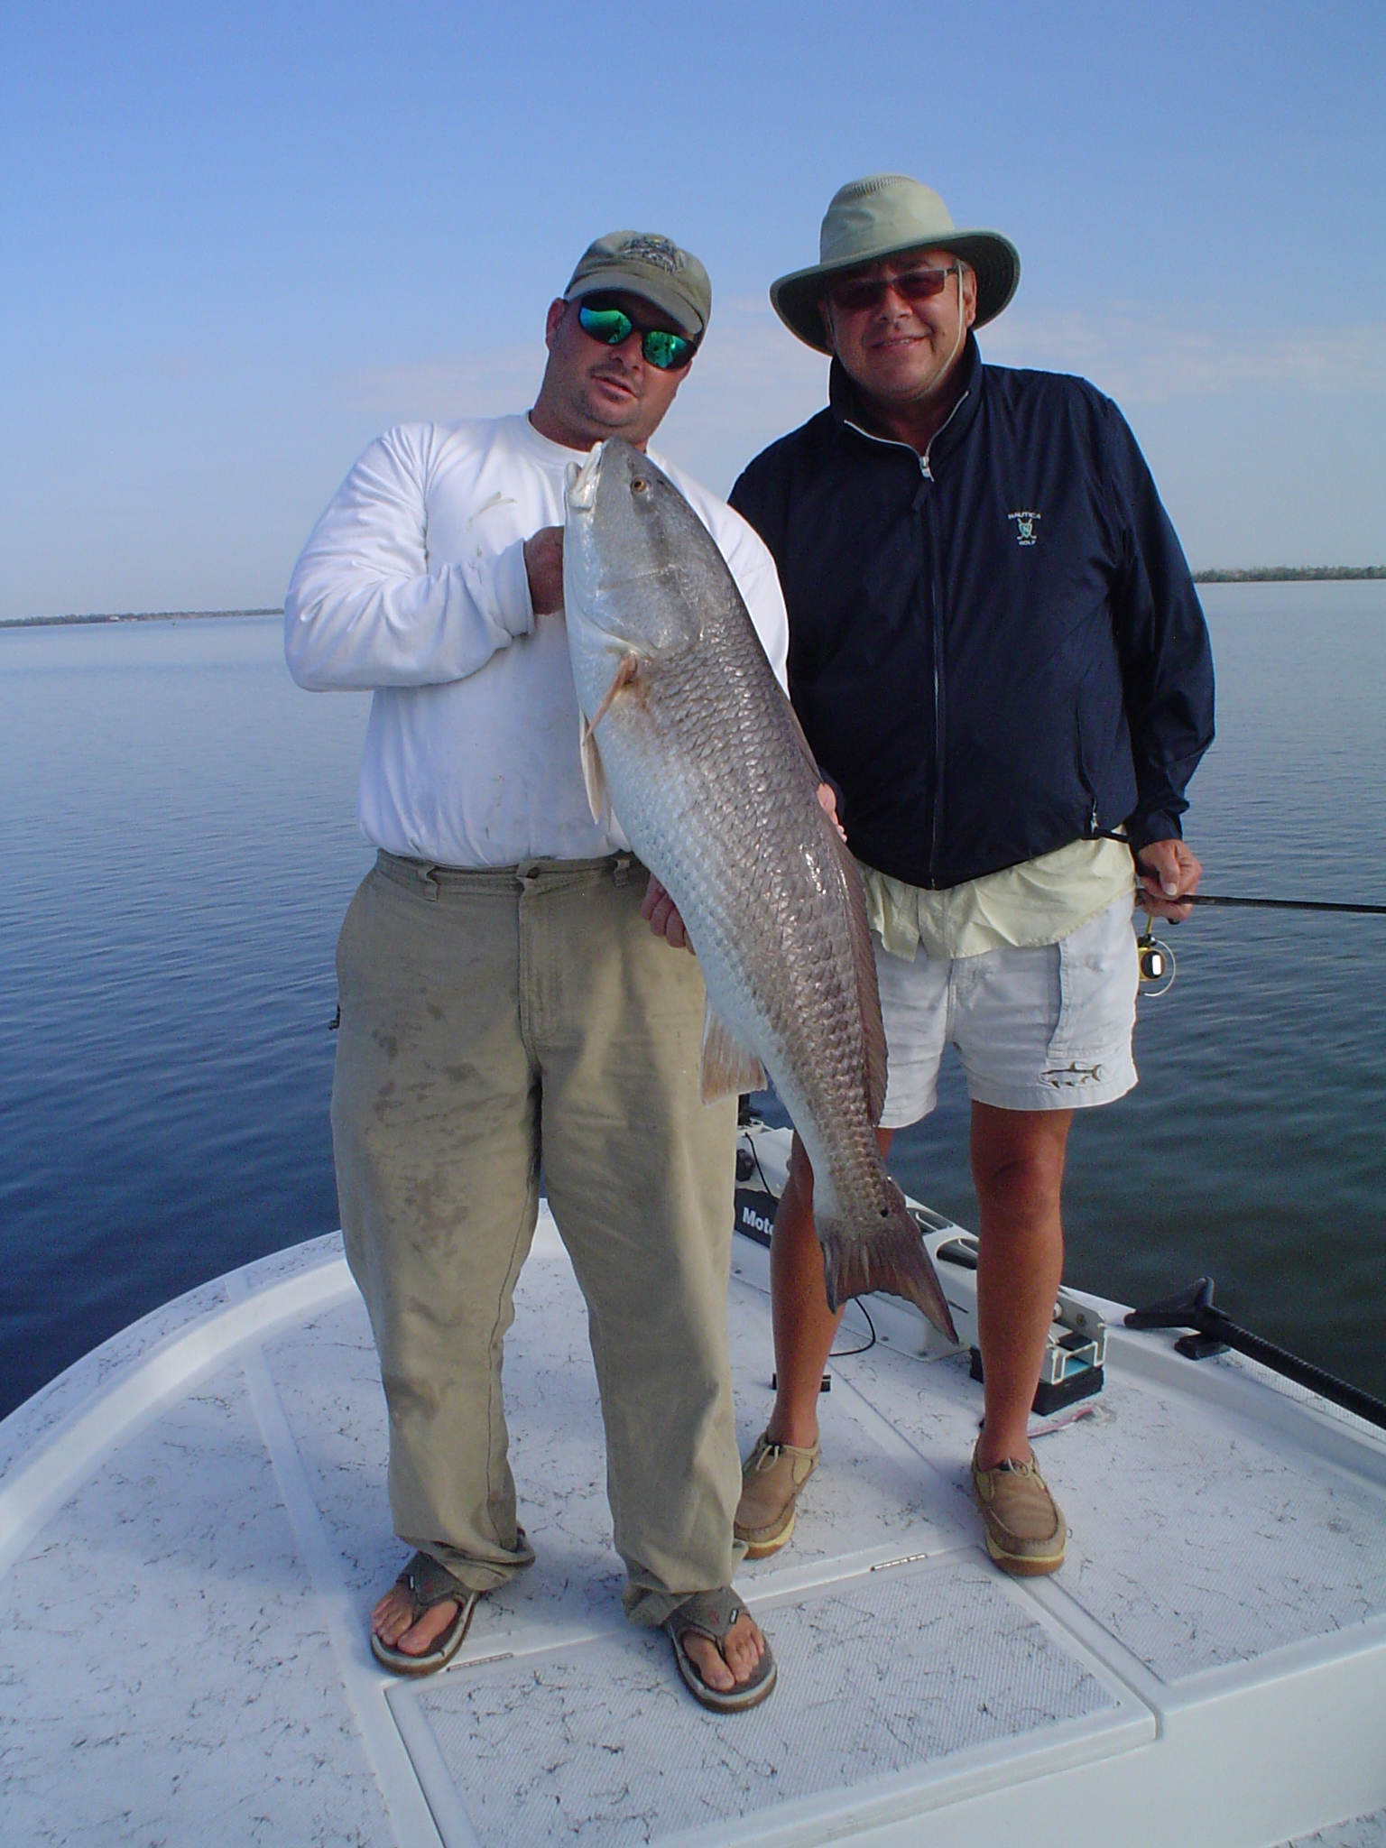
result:
[[[0,1580],[0,1841],[390,1841],[240,1366]]]

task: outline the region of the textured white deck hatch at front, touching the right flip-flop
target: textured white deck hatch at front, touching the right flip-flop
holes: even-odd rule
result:
[[[1076,1732],[1092,1733],[1094,1754],[1135,1743],[1129,1709],[981,1562],[865,1574],[760,1608],[780,1687],[747,1715],[693,1706],[658,1634],[458,1665],[410,1689],[434,1776],[445,1767],[482,1848],[732,1841],[743,1818],[763,1828],[771,1805],[782,1824],[915,1785],[924,1805],[928,1785],[989,1746],[1042,1761]]]

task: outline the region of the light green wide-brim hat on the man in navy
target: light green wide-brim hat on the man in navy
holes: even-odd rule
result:
[[[819,353],[832,347],[819,299],[835,275],[906,249],[950,249],[978,277],[974,327],[994,320],[1020,281],[1020,251],[1000,231],[959,229],[933,187],[907,174],[850,179],[833,194],[819,235],[819,261],[771,283],[771,303],[785,327]]]

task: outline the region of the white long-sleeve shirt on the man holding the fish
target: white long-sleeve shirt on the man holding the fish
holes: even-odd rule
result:
[[[591,859],[628,846],[591,819],[562,617],[534,615],[525,540],[564,523],[580,453],[527,416],[410,423],[366,449],[285,597],[303,687],[373,689],[357,815],[375,846],[442,867]],[[662,456],[717,541],[778,675],[774,562],[726,503]]]

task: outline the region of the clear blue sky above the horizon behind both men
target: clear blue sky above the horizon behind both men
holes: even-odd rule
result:
[[[883,170],[1018,244],[983,353],[1112,392],[1196,565],[1386,562],[1384,94],[1380,0],[7,0],[0,615],[277,604],[379,429],[532,401],[617,225],[711,272],[660,444],[724,492]]]

